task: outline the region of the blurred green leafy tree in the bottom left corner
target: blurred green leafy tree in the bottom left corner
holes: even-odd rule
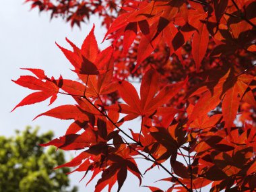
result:
[[[38,128],[16,131],[15,137],[0,136],[0,191],[75,192],[65,173],[69,168],[53,170],[63,164],[63,152],[38,146],[51,140],[53,132],[38,135]]]

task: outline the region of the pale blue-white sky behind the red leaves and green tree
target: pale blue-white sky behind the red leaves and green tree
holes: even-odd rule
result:
[[[36,115],[55,106],[72,104],[74,103],[73,100],[68,96],[59,96],[57,102],[52,106],[48,106],[49,100],[46,100],[31,106],[17,108],[10,113],[18,102],[32,93],[31,90],[14,84],[11,82],[11,79],[18,79],[20,75],[31,74],[29,71],[20,69],[22,67],[44,69],[49,77],[54,76],[58,78],[61,74],[63,78],[75,79],[74,73],[70,70],[71,64],[65,59],[65,56],[55,45],[55,42],[69,48],[67,42],[65,42],[65,37],[67,37],[77,46],[81,46],[84,38],[90,32],[93,23],[96,24],[96,38],[98,42],[102,41],[106,31],[100,27],[98,18],[92,18],[89,24],[82,24],[81,30],[77,27],[71,29],[70,25],[61,20],[61,18],[50,21],[49,13],[38,13],[37,9],[30,11],[30,5],[24,5],[23,2],[23,0],[1,2],[0,135],[11,136],[14,135],[15,129],[24,130],[27,125],[31,125],[32,127],[40,126],[40,133],[52,130],[55,136],[59,137],[65,134],[71,121],[61,121],[51,117],[40,117],[35,121],[32,121],[32,119]],[[104,44],[99,44],[99,46],[103,49],[107,44],[108,42],[104,42]],[[133,121],[127,126],[136,129],[137,123]],[[67,154],[67,159],[77,154]],[[146,160],[142,160],[142,162],[140,160],[138,164],[140,164],[141,172],[150,166]],[[77,185],[79,192],[94,191],[97,178],[86,187],[90,174],[86,177],[87,179],[79,183],[83,175],[84,173],[81,172],[71,174],[71,185]],[[168,175],[165,172],[154,168],[154,170],[143,176],[143,183],[141,185],[154,185],[166,189],[168,187],[167,183],[154,183],[154,181],[166,177]],[[114,187],[113,191],[116,191],[115,189],[117,189],[117,186]],[[138,180],[129,174],[121,191],[146,192],[149,189],[146,187],[139,188]]]

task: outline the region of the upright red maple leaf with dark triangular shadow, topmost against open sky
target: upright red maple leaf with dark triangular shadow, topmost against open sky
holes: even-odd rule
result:
[[[102,94],[108,94],[116,90],[116,82],[113,79],[113,47],[108,46],[103,51],[99,51],[96,38],[94,36],[94,27],[88,34],[81,49],[79,49],[73,42],[67,39],[67,42],[72,46],[73,51],[69,51],[59,46],[61,51],[75,67],[79,79],[86,84],[83,87],[79,82],[63,82],[63,90],[69,94],[79,93],[79,95],[87,97],[98,97]],[[65,83],[68,83],[68,87]],[[71,85],[73,84],[73,85]],[[71,89],[72,90],[71,90]],[[82,90],[83,89],[83,90]],[[71,92],[70,92],[71,91]]]

